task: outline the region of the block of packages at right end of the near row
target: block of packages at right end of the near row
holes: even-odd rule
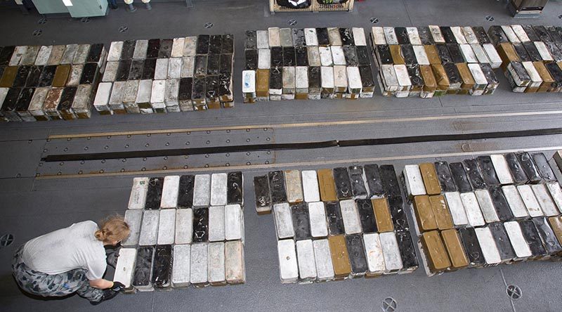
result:
[[[406,165],[400,178],[427,275],[560,255],[557,176],[542,152]]]

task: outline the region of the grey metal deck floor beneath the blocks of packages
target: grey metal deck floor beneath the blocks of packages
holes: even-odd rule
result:
[[[562,14],[562,4],[557,1],[551,1],[547,13],[540,19],[514,20],[505,10],[503,1],[371,0],[355,4],[353,13],[269,15],[265,2],[196,1],[191,10],[181,3],[154,4],[150,12],[139,8],[132,14],[121,6],[118,11],[110,11],[109,17],[93,18],[87,23],[70,18],[48,18],[44,25],[38,24],[39,15],[22,16],[17,8],[3,9],[0,11],[0,45],[109,44],[123,39],[230,32],[237,39],[237,51],[242,51],[244,30],[289,27],[287,20],[291,18],[297,20],[296,27],[357,26],[368,29],[372,26],[369,21],[372,17],[379,19],[378,25],[384,26],[488,27],[514,23],[559,25],[558,15]],[[486,15],[494,16],[495,21],[488,22]],[[204,29],[205,22],[212,22],[214,27]],[[121,26],[129,27],[129,30],[119,32]],[[32,36],[34,30],[42,30],[41,36]],[[235,72],[240,73],[242,53],[237,53],[235,61]],[[492,96],[421,100],[377,95],[356,101],[283,101],[255,105],[242,104],[240,78],[235,75],[236,107],[229,110],[112,117],[94,113],[91,119],[77,122],[0,124],[0,202],[4,212],[0,219],[0,235],[12,233],[15,236],[13,245],[0,249],[1,309],[381,311],[381,301],[393,297],[398,302],[398,311],[559,311],[562,299],[557,286],[562,272],[560,264],[551,262],[464,270],[432,278],[427,278],[420,269],[410,275],[378,279],[282,285],[277,270],[273,221],[271,216],[255,214],[251,177],[273,168],[336,167],[365,162],[395,164],[401,170],[404,164],[412,162],[462,160],[479,153],[508,150],[544,150],[550,156],[553,150],[562,149],[560,135],[331,150],[263,151],[249,155],[131,158],[84,164],[40,162],[42,155],[65,153],[65,148],[69,153],[84,152],[86,147],[88,152],[103,152],[562,127],[560,93],[511,93],[503,75],[497,74],[501,84]],[[141,133],[126,136],[127,131]],[[107,134],[91,135],[108,132],[114,134],[110,137]],[[65,135],[70,134],[83,135],[68,141]],[[63,136],[46,140],[48,136],[56,135]],[[133,176],[232,169],[244,171],[245,178],[245,285],[122,295],[96,308],[77,296],[64,300],[32,299],[15,286],[9,264],[18,245],[76,221],[98,220],[109,213],[123,213]],[[59,171],[60,176],[57,175]],[[111,272],[108,275],[111,276]],[[523,297],[511,301],[505,292],[507,285],[521,287]]]

